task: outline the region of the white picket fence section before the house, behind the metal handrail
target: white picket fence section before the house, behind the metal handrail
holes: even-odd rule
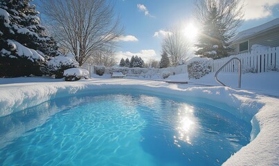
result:
[[[269,48],[269,50],[263,51],[251,51],[251,53],[243,53],[239,55],[231,55],[229,57],[224,57],[222,59],[213,60],[213,72],[216,72],[221,68],[229,59],[232,57],[237,57],[242,62],[242,71],[262,73],[268,70],[274,70],[279,68],[279,47]],[[230,64],[226,65],[222,69],[224,72],[237,72],[238,63],[233,60]]]

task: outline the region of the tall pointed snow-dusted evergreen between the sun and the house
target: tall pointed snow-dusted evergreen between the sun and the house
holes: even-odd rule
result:
[[[198,48],[195,52],[196,55],[213,59],[228,56],[228,52],[231,51],[231,48],[228,47],[229,37],[226,35],[226,28],[222,26],[219,17],[217,2],[213,1],[208,7],[208,17],[202,23],[198,44],[195,44]]]

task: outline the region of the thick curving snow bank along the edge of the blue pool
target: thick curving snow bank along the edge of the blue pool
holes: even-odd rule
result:
[[[186,84],[168,84],[148,80],[83,80],[79,82],[36,82],[0,85],[0,116],[7,116],[66,95],[91,93],[100,89],[137,89],[175,95],[194,100],[206,99],[207,104],[216,104],[244,120],[252,120],[249,145],[231,156],[224,165],[276,165],[279,163],[279,99],[257,95],[249,91],[235,90],[224,86],[197,87]],[[258,136],[256,136],[258,133]],[[256,136],[256,137],[255,137]]]

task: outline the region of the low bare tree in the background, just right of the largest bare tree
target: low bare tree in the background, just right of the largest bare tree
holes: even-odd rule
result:
[[[103,48],[102,50],[96,50],[93,56],[87,59],[87,63],[93,65],[102,65],[106,67],[111,67],[117,64],[116,62],[116,52],[111,48]]]

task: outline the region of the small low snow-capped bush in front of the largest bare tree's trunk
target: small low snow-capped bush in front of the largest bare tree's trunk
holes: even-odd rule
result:
[[[65,81],[78,81],[82,78],[89,79],[89,71],[84,68],[69,68],[63,73]]]

